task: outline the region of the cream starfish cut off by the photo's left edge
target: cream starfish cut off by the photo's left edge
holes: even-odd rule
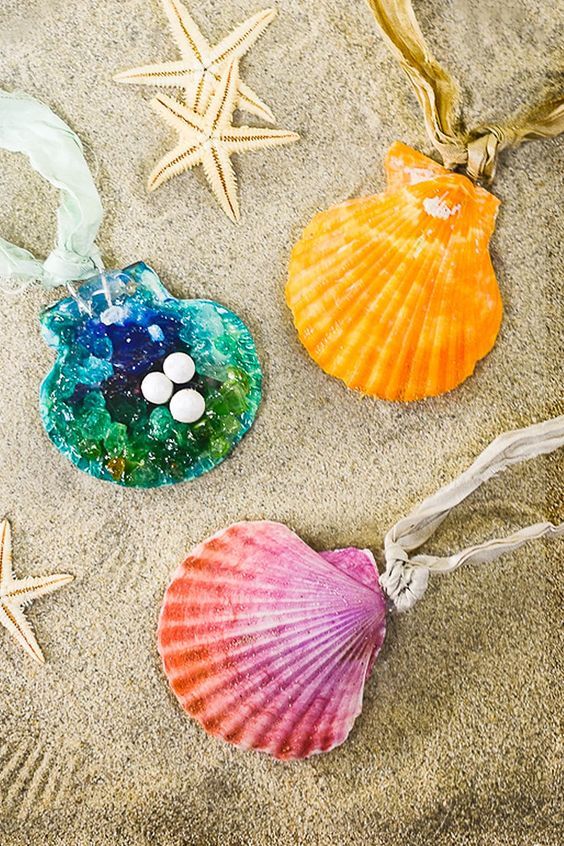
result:
[[[24,608],[32,600],[72,582],[74,576],[57,573],[52,576],[28,576],[16,579],[12,570],[12,529],[7,520],[0,524],[0,623],[15,637],[20,646],[40,664],[43,653],[33,630],[25,618]]]

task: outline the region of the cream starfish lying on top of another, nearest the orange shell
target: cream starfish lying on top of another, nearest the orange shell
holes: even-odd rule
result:
[[[239,220],[237,180],[230,156],[297,141],[299,135],[283,129],[233,126],[238,84],[237,61],[228,65],[203,115],[171,97],[159,95],[152,105],[178,131],[176,147],[167,153],[149,176],[149,191],[195,165],[204,167],[209,185],[233,222]]]

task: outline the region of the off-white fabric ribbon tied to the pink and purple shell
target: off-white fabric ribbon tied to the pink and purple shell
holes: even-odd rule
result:
[[[407,611],[423,596],[430,572],[448,573],[466,562],[479,564],[493,561],[530,540],[563,535],[564,523],[558,526],[548,522],[535,523],[508,537],[469,546],[446,557],[410,555],[431,537],[453,508],[496,473],[561,446],[564,446],[564,416],[506,432],[496,438],[468,470],[396,523],[384,541],[386,570],[380,577],[381,585],[396,609]]]

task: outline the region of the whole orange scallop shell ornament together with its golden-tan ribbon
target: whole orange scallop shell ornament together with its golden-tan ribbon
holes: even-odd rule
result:
[[[455,388],[495,344],[502,303],[488,244],[499,200],[476,183],[491,183],[504,149],[564,132],[564,96],[467,130],[458,86],[425,43],[411,0],[368,4],[445,166],[392,144],[382,194],[306,227],[286,298],[326,373],[365,394],[417,400]]]

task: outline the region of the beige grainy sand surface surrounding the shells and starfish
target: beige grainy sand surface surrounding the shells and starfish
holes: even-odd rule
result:
[[[191,5],[210,39],[261,8]],[[302,141],[239,157],[235,227],[200,172],[145,193],[173,138],[149,109],[151,90],[111,76],[176,58],[158,0],[0,3],[0,84],[45,100],[83,139],[106,209],[107,265],[144,259],[175,295],[225,303],[252,328],[266,375],[255,427],[219,469],[172,489],[121,490],[78,472],[41,427],[37,392],[52,354],[37,314],[58,294],[0,297],[0,515],[13,521],[19,574],[76,576],[29,612],[45,667],[0,632],[0,844],[553,846],[558,544],[434,578],[424,601],[392,620],[345,746],[304,763],[209,739],[160,670],[163,591],[207,535],[269,518],[320,549],[378,550],[396,519],[496,434],[564,411],[561,142],[524,146],[499,168],[492,254],[505,318],[466,384],[387,404],[346,390],[307,358],[283,298],[292,243],[317,209],[382,187],[392,140],[429,147],[364,2],[276,5],[242,71],[278,126]],[[415,7],[462,81],[469,123],[504,117],[555,86],[557,4]],[[21,156],[0,153],[0,167],[0,232],[46,254],[55,192]],[[429,548],[562,519],[559,470],[553,455],[492,481]]]

